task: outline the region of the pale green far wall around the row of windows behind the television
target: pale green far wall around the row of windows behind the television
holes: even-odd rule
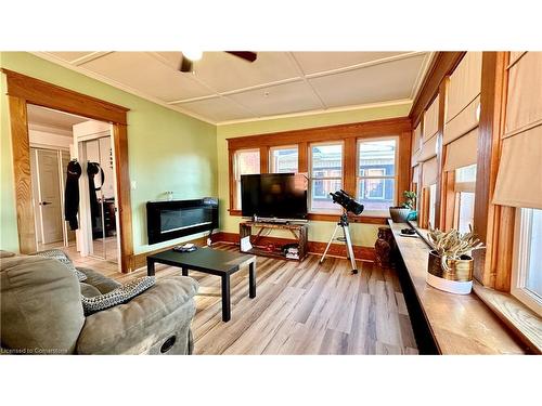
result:
[[[383,107],[365,107],[348,112],[334,112],[327,114],[218,126],[218,196],[220,198],[220,230],[228,233],[238,233],[238,223],[242,221],[242,218],[230,215],[228,212],[230,192],[228,185],[227,139],[349,122],[379,120],[392,117],[404,117],[409,115],[410,107],[411,104],[408,103]],[[327,243],[334,228],[334,222],[311,221],[309,226],[309,239],[311,241]],[[372,247],[376,240],[378,225],[359,223],[351,224],[350,233],[354,245]],[[273,235],[288,237],[287,234],[276,233]]]

